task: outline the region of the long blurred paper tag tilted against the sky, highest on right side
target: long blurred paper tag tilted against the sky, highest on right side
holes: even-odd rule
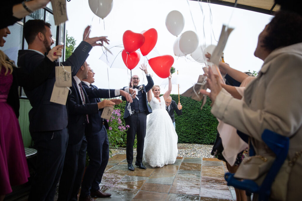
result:
[[[220,57],[222,55],[224,47],[226,46],[227,39],[229,38],[230,33],[233,30],[234,28],[226,27],[226,25],[222,26],[218,44],[210,58],[210,61],[216,64],[217,66],[219,65]]]

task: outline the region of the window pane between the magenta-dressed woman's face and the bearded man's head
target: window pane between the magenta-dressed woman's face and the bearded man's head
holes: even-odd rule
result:
[[[23,26],[19,23],[15,23],[9,26],[9,30],[11,34],[8,34],[7,38],[5,38],[6,42],[0,49],[17,64],[18,51],[22,49]]]

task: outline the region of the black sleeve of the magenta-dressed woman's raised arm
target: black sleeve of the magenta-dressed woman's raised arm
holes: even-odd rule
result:
[[[47,80],[54,71],[54,67],[55,62],[50,61],[48,57],[45,57],[31,73],[25,68],[14,68],[14,71],[16,71],[19,86],[23,86],[25,90],[31,91]]]

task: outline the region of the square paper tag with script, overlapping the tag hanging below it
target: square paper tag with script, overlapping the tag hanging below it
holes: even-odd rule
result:
[[[56,66],[56,86],[72,86],[71,66]]]

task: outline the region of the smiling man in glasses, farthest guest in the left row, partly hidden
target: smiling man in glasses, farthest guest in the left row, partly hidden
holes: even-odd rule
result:
[[[82,81],[82,86],[87,91],[89,88],[98,89],[92,85],[94,83],[94,72],[88,66],[87,79]],[[89,97],[91,103],[101,102],[99,98]],[[79,201],[88,200],[87,197],[109,197],[110,193],[103,193],[100,190],[103,173],[109,160],[109,141],[106,128],[108,123],[106,119],[101,118],[103,109],[98,113],[90,115],[91,122],[86,129],[87,154],[89,156],[89,164],[86,168],[82,181],[81,194]]]

